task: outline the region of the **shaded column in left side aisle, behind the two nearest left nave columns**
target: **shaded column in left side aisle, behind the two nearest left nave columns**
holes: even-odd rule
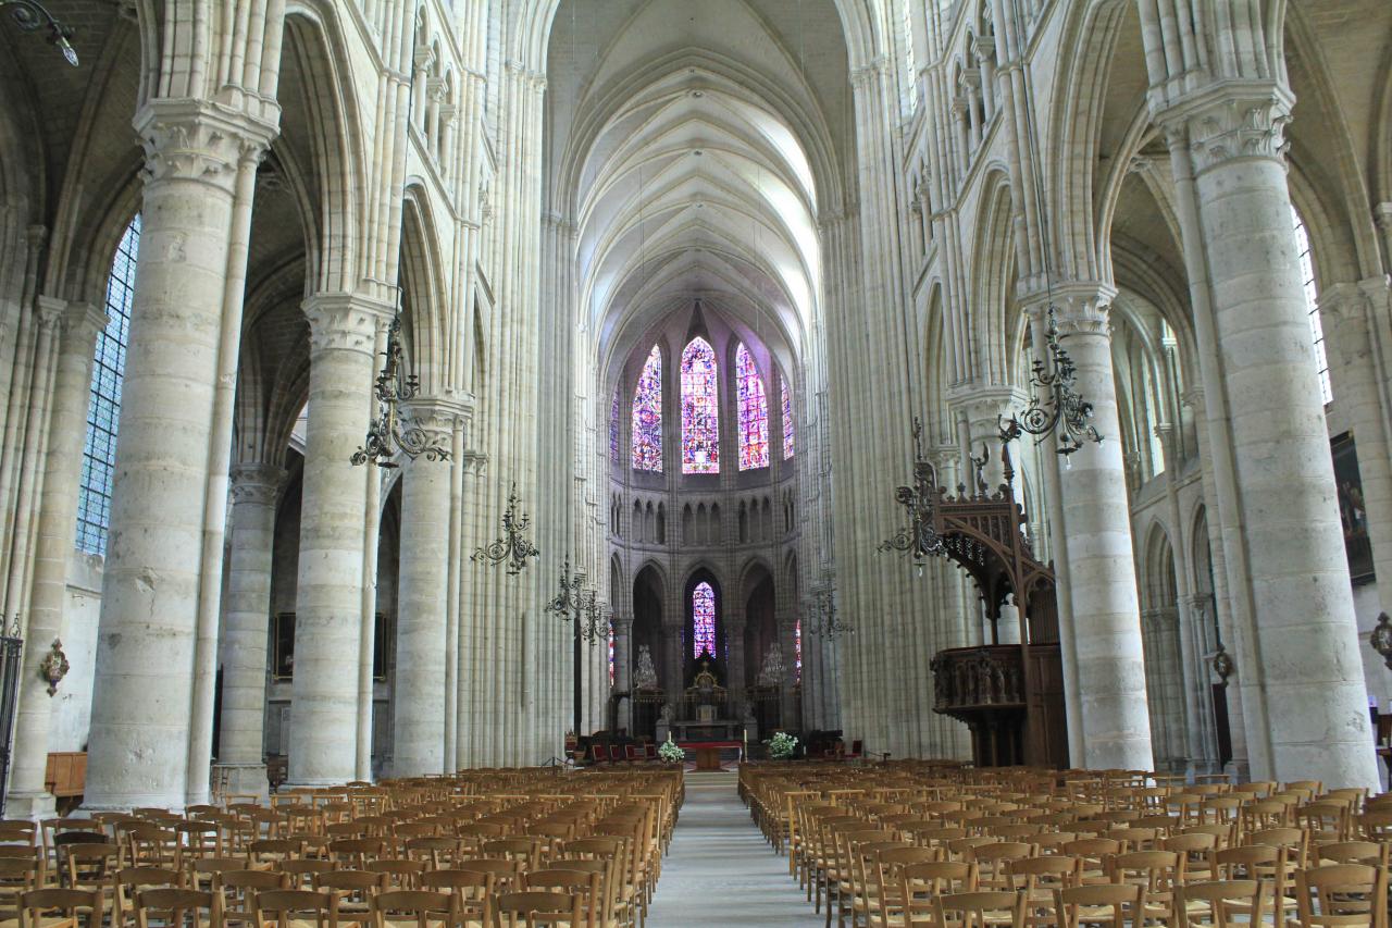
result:
[[[223,716],[217,765],[228,790],[264,796],[266,644],[276,503],[285,468],[232,467],[232,543],[223,599]]]

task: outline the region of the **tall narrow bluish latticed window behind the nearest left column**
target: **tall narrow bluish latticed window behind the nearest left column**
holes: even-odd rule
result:
[[[77,546],[106,555],[106,527],[111,520],[111,474],[116,470],[116,428],[121,417],[121,379],[125,340],[135,300],[135,258],[141,251],[141,217],[131,220],[116,247],[106,279],[106,329],[96,337],[88,435],[82,446],[82,484],[78,486]]]

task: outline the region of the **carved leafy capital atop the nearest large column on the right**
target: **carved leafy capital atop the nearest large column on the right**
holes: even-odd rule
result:
[[[1290,91],[1271,81],[1219,82],[1157,117],[1168,135],[1179,134],[1194,173],[1232,160],[1265,157],[1285,163]]]

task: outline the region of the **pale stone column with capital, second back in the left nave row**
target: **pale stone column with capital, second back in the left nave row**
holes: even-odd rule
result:
[[[290,782],[298,786],[345,783],[356,772],[362,585],[373,582],[362,575],[372,465],[354,467],[349,457],[367,432],[377,320],[390,312],[359,294],[305,301],[309,425],[290,716]]]

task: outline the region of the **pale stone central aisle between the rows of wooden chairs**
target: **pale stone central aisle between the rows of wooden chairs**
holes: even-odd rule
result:
[[[820,928],[739,801],[735,773],[688,773],[686,803],[647,914],[649,928],[764,925]]]

